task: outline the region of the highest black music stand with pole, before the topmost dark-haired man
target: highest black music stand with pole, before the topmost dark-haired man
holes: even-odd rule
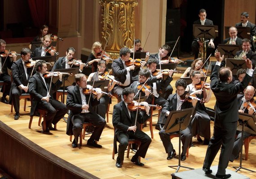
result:
[[[193,24],[193,34],[195,38],[216,38],[218,36],[218,26],[204,26]],[[206,49],[203,45],[203,62],[205,61],[205,51]]]

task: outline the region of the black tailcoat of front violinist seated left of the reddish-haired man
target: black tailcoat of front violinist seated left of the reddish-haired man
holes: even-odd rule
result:
[[[56,83],[52,82],[51,89],[49,89],[50,82],[51,78],[45,78],[45,86],[39,72],[36,72],[29,79],[28,91],[29,94],[31,94],[31,96],[33,97],[30,116],[34,115],[37,102],[40,102],[43,97],[47,96],[47,89],[49,90],[49,94],[51,96],[50,98],[52,98],[53,90],[58,90],[62,85],[62,81],[57,80]]]

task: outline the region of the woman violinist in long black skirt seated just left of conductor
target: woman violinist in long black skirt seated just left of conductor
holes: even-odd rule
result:
[[[190,95],[202,99],[204,102],[209,102],[212,96],[212,90],[209,87],[209,93],[207,93],[206,87],[201,87],[201,73],[194,71],[191,76],[192,83],[187,85],[186,91],[189,91]],[[199,87],[198,87],[199,86]],[[202,142],[200,136],[204,137],[203,145],[208,145],[211,139],[211,128],[210,128],[210,116],[206,112],[206,108],[203,102],[197,102],[196,113],[191,120],[192,126],[192,137],[196,136],[197,140]]]

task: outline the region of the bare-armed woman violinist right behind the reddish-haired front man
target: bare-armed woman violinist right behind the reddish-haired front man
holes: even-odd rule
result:
[[[97,65],[97,72],[93,72],[89,75],[87,81],[93,81],[93,80],[103,80],[106,76],[105,72],[106,72],[107,68],[106,68],[106,61],[105,60],[101,60],[98,62]],[[108,79],[106,77],[106,79]],[[114,79],[113,79],[114,80]],[[107,93],[109,93],[115,86],[116,81],[110,81],[108,86],[107,86]],[[100,103],[94,108],[95,112],[102,116],[102,118],[106,118],[106,113],[107,113],[107,108],[108,108],[108,104],[111,103],[111,98],[106,95],[103,94],[102,98],[100,98]]]

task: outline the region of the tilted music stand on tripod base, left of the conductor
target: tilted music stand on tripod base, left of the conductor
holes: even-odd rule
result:
[[[171,168],[177,167],[175,173],[179,171],[180,167],[194,170],[194,168],[181,166],[181,130],[184,130],[190,124],[191,115],[194,113],[194,109],[195,108],[192,107],[179,111],[170,111],[170,114],[168,115],[168,118],[166,119],[165,125],[163,127],[163,129],[165,129],[165,133],[173,133],[177,131],[179,132],[179,164],[176,166],[168,166]]]

